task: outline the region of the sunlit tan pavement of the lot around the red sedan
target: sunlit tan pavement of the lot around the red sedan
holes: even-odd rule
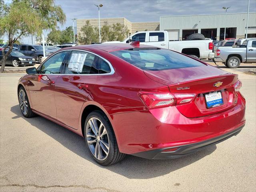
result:
[[[242,80],[240,134],[183,158],[126,156],[109,167],[93,161],[84,138],[40,116],[24,118],[16,94],[22,74],[0,74],[0,191],[255,191],[256,76],[244,73],[255,68],[221,68]]]

